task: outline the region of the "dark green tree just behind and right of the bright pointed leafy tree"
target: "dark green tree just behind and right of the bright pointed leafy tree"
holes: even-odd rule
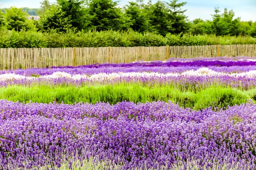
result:
[[[64,12],[63,16],[70,21],[70,24],[81,30],[84,28],[84,8],[83,0],[57,0],[61,10]]]

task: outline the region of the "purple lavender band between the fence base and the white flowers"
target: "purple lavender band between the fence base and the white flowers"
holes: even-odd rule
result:
[[[234,73],[256,70],[256,61],[170,61],[150,63],[129,63],[129,64],[99,64],[83,65],[79,67],[52,67],[52,68],[31,68],[27,70],[5,70],[0,74],[15,73],[23,76],[49,75],[54,72],[67,72],[70,74],[99,74],[115,72],[158,72],[158,73],[181,73],[188,70],[198,70],[207,67],[216,72]]]

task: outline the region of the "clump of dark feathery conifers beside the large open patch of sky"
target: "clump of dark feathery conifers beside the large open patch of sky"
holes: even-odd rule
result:
[[[181,10],[186,2],[177,3],[177,1],[172,0],[170,3],[157,1],[155,4],[149,1],[148,4],[142,5],[138,2],[130,2],[125,11],[131,17],[132,29],[158,33],[162,36],[167,33],[186,32],[189,26],[184,15],[186,10]]]

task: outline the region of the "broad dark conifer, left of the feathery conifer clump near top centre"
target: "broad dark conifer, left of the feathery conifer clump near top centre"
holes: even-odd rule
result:
[[[86,28],[88,30],[127,30],[129,18],[124,15],[117,2],[112,0],[90,0],[86,13]]]

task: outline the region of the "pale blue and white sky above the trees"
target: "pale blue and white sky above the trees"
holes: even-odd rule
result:
[[[119,0],[119,6],[123,7],[128,4],[128,1],[133,0]],[[152,0],[156,2],[157,0]],[[170,0],[163,0],[170,2]],[[41,0],[0,0],[0,8],[9,7],[29,7],[39,8]],[[49,0],[49,2],[56,2],[56,0]],[[147,0],[144,1],[145,3]],[[192,21],[195,18],[202,20],[211,20],[211,14],[214,13],[214,8],[219,7],[221,13],[224,8],[228,10],[233,9],[235,18],[240,17],[241,21],[256,21],[256,0],[179,0],[178,2],[187,2],[182,9],[186,9],[185,15],[187,19]]]

